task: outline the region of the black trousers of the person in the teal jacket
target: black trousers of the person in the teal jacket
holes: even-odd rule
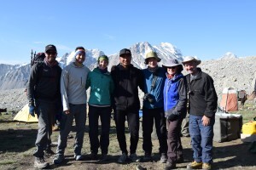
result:
[[[101,146],[102,154],[108,154],[109,145],[109,128],[111,107],[97,107],[89,105],[89,137],[91,153],[98,153]],[[100,140],[98,139],[98,120],[101,118],[102,133]]]

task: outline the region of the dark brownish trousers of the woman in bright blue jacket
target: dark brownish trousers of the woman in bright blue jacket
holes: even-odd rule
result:
[[[168,161],[176,162],[177,158],[183,156],[183,146],[180,139],[182,117],[177,117],[174,121],[167,120],[168,127]]]

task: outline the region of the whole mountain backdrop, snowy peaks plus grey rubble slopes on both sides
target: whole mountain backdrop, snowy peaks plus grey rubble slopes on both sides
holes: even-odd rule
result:
[[[162,45],[162,46],[161,46]],[[181,52],[177,49],[173,53],[172,49],[169,48],[168,44],[160,44],[159,46],[152,46],[148,42],[139,42],[131,46],[132,53],[132,64],[143,69],[146,67],[144,64],[144,56],[148,50],[157,51],[162,59],[159,65],[161,66],[163,62],[167,59],[175,57],[178,60],[182,60],[183,56]],[[166,51],[172,51],[172,54],[166,54]],[[72,53],[72,52],[71,52]],[[62,57],[58,58],[60,65],[63,67],[71,62],[71,53],[64,54]],[[87,59],[85,60],[85,65],[89,66],[90,69],[96,66],[96,59],[99,54],[103,52],[99,49],[88,50]],[[93,55],[93,56],[90,56]],[[170,58],[169,58],[170,57]],[[119,53],[112,54],[109,56],[108,69],[112,65],[119,64]],[[220,59],[211,59],[202,61],[201,70],[209,74],[213,81],[214,87],[218,94],[218,102],[221,99],[221,94],[224,88],[234,87],[236,90],[246,90],[247,94],[251,94],[254,88],[255,77],[256,77],[256,56],[251,57],[226,57]],[[30,65],[4,65],[0,64],[0,108],[8,108],[9,111],[20,111],[20,109],[26,105],[26,93],[25,84],[28,79],[30,71]],[[186,75],[187,72],[183,71]],[[8,88],[4,88],[8,87]],[[4,89],[3,89],[4,88]],[[89,92],[87,92],[89,93]],[[142,99],[143,93],[139,94],[139,98]]]

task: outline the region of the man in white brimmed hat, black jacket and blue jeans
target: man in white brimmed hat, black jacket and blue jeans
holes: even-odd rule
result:
[[[201,60],[185,57],[183,65],[189,88],[189,133],[194,161],[189,169],[211,169],[212,139],[218,97],[212,77],[197,68]]]

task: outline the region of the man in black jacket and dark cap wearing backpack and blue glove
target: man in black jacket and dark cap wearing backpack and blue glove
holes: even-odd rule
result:
[[[29,102],[29,113],[38,115],[38,136],[33,156],[35,156],[34,167],[49,167],[44,161],[44,149],[49,143],[52,133],[52,121],[57,106],[61,107],[61,67],[55,60],[57,50],[54,45],[45,47],[44,62],[32,66],[27,86],[27,99]]]

